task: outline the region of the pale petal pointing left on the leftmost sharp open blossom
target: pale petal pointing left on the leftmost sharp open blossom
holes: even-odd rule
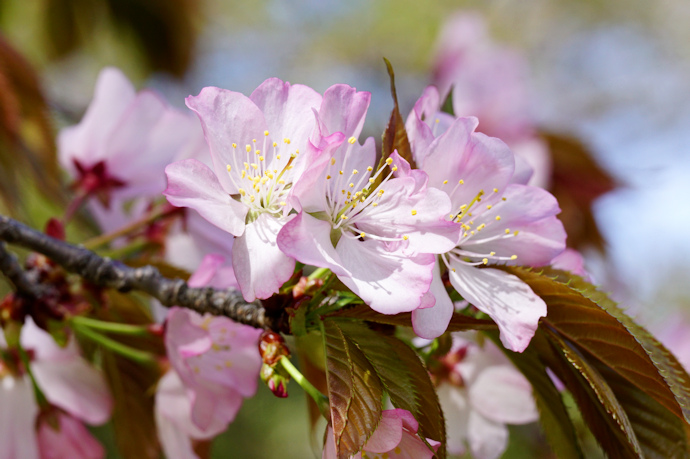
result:
[[[242,235],[248,208],[228,195],[211,169],[186,159],[170,164],[165,174],[168,188],[164,194],[172,205],[191,207],[217,227]]]

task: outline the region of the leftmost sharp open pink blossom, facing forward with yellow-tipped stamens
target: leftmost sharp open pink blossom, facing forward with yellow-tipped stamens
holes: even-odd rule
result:
[[[340,139],[320,136],[317,113],[349,116],[322,99],[276,78],[249,97],[208,87],[187,98],[202,122],[213,168],[195,159],[169,165],[165,195],[236,237],[232,263],[247,301],[270,297],[292,276],[295,260],[281,252],[276,235],[293,218],[305,169],[319,161],[322,147]]]

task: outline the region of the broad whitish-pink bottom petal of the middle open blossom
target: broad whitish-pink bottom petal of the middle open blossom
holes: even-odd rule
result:
[[[340,276],[340,281],[375,311],[413,311],[429,291],[435,260],[431,254],[408,257],[387,251],[378,241],[348,237],[340,239],[336,250],[344,268],[353,273]]]

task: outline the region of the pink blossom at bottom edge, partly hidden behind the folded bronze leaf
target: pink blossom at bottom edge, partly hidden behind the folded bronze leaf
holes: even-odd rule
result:
[[[352,459],[431,459],[440,443],[427,439],[433,451],[417,435],[419,423],[407,410],[386,410],[381,413],[381,421],[364,444],[361,452]],[[323,459],[336,459],[333,428],[328,427]]]

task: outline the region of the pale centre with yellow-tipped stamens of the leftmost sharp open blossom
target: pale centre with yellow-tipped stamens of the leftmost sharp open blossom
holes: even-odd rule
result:
[[[261,146],[252,139],[242,152],[242,147],[232,144],[233,163],[226,166],[228,175],[237,187],[239,201],[250,208],[250,215],[268,212],[278,216],[287,205],[293,163],[299,155],[290,144],[287,137],[280,143],[272,141],[268,131],[264,131]]]

